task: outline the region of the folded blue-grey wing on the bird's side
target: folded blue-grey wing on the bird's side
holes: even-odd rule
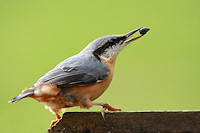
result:
[[[42,76],[35,85],[54,84],[57,87],[90,85],[108,77],[106,65],[94,55],[75,55]]]

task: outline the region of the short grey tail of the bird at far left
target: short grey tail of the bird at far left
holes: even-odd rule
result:
[[[16,103],[19,100],[28,97],[30,95],[34,94],[34,89],[27,89],[25,91],[23,91],[21,94],[19,94],[18,96],[14,97],[13,99],[9,100],[9,103]]]

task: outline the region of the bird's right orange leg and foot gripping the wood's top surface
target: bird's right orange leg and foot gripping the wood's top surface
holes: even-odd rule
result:
[[[105,114],[104,112],[105,112],[106,109],[108,109],[109,111],[121,111],[121,109],[113,108],[107,103],[92,103],[92,104],[103,107],[102,110],[101,110],[101,115],[102,115],[105,122],[106,122],[106,119],[105,119],[105,116],[104,116],[104,114]]]

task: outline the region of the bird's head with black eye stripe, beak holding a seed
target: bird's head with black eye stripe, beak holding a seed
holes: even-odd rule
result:
[[[139,31],[140,35],[131,38],[137,31]],[[90,52],[98,57],[110,60],[116,58],[123,47],[142,37],[147,31],[149,31],[149,28],[138,28],[123,35],[103,36],[92,41],[81,53]]]

